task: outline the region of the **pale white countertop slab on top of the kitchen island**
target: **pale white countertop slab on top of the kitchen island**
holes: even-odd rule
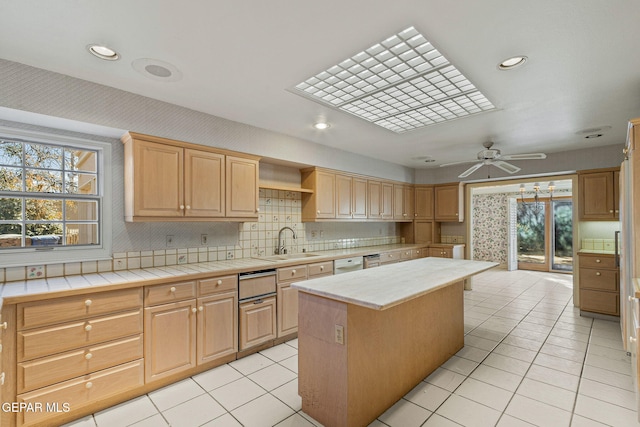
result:
[[[385,310],[497,266],[498,263],[422,258],[297,282],[302,292]]]

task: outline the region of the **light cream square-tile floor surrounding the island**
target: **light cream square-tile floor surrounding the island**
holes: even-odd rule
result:
[[[570,275],[491,270],[465,291],[465,346],[371,426],[640,426],[618,322],[580,317]],[[67,426],[320,425],[297,340]]]

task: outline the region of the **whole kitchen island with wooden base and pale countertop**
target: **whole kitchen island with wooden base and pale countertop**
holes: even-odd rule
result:
[[[423,258],[293,284],[302,410],[374,421],[464,346],[464,280],[496,265]]]

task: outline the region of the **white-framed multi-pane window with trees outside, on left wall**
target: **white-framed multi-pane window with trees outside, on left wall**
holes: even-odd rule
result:
[[[2,131],[0,266],[110,255],[103,238],[108,145]]]

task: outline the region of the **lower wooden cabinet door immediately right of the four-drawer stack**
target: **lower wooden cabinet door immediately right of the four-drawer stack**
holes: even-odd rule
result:
[[[196,301],[144,309],[145,382],[196,366]]]

